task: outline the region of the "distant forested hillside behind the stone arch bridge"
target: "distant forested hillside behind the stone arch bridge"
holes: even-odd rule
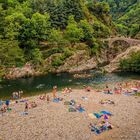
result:
[[[99,0],[107,2],[118,33],[140,39],[140,0]]]

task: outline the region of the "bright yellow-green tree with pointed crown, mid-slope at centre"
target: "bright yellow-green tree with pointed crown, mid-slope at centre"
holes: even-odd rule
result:
[[[83,30],[78,28],[73,16],[69,17],[68,26],[65,30],[65,37],[72,45],[74,45],[76,42],[79,42],[84,37]]]

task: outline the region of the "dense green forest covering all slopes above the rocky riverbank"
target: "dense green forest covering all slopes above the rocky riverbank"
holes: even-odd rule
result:
[[[60,53],[51,63],[58,67],[77,49],[98,55],[105,47],[101,39],[117,31],[138,38],[138,1],[104,1],[0,0],[0,73],[26,62],[44,66],[48,57]]]

